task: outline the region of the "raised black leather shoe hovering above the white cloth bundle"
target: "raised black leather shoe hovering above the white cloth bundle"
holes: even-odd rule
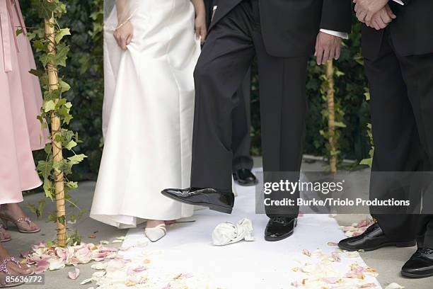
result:
[[[214,188],[166,188],[164,196],[188,205],[202,205],[211,210],[231,214],[234,194],[218,191]]]

